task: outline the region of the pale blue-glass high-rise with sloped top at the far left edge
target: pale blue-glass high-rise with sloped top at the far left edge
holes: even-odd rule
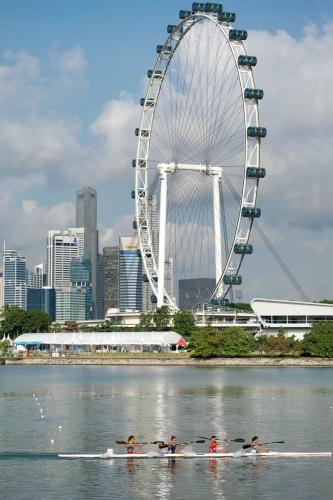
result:
[[[27,309],[27,263],[16,250],[3,252],[4,305]]]

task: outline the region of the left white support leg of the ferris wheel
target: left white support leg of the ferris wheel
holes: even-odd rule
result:
[[[164,270],[165,270],[165,230],[167,212],[168,177],[165,171],[160,172],[161,199],[160,199],[160,233],[158,243],[158,282],[157,282],[157,307],[164,303]]]

